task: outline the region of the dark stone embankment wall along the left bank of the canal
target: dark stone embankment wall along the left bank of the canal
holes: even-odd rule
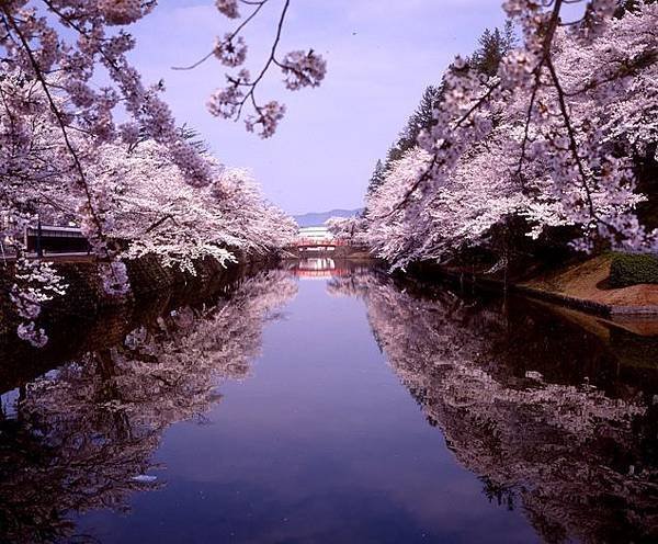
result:
[[[90,260],[57,262],[55,268],[69,285],[65,296],[48,303],[39,317],[48,343],[35,349],[16,336],[19,324],[7,288],[11,270],[0,270],[0,385],[10,390],[56,367],[78,360],[90,351],[116,345],[135,327],[155,322],[172,309],[201,306],[230,296],[246,277],[277,259],[247,258],[226,267],[213,259],[195,264],[196,274],[163,267],[157,258],[127,261],[132,292],[125,297],[110,297],[103,292],[97,267]]]

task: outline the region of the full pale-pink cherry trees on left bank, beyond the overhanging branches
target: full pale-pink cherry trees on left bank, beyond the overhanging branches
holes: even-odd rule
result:
[[[192,188],[152,140],[101,151],[91,171],[100,188],[109,188],[107,234],[127,240],[122,254],[128,258],[156,254],[194,274],[195,260],[209,256],[225,263],[236,260],[236,251],[273,252],[295,235],[294,220],[264,200],[247,170],[206,157],[213,181]]]

